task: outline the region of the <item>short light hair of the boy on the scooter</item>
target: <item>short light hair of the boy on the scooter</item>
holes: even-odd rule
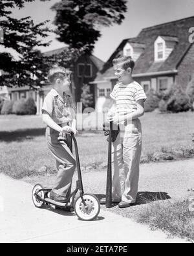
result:
[[[65,69],[65,67],[59,67],[56,65],[52,67],[52,69],[50,69],[50,71],[48,72],[47,78],[48,78],[48,81],[52,84],[56,82],[57,79],[64,80],[65,78],[67,78],[67,76],[70,73],[71,72]]]

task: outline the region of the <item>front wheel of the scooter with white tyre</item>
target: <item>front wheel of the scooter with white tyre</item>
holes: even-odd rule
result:
[[[84,206],[81,197],[74,202],[74,211],[80,220],[94,220],[100,213],[100,202],[93,194],[83,194]]]

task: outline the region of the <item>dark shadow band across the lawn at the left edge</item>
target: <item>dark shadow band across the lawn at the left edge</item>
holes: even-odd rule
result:
[[[16,130],[14,132],[3,131],[0,132],[0,141],[25,141],[27,139],[33,139],[33,137],[42,135],[45,135],[45,128]]]

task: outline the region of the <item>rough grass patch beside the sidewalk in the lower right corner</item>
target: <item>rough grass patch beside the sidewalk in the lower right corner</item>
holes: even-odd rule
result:
[[[189,211],[191,202],[188,200],[177,201],[173,204],[155,202],[144,207],[136,216],[136,221],[148,224],[151,229],[161,229],[169,236],[177,236],[194,242],[194,214]]]

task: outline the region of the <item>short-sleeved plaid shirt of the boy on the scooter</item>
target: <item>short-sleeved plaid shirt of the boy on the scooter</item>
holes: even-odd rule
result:
[[[75,118],[75,107],[71,95],[63,94],[62,97],[55,89],[51,89],[43,102],[42,113],[46,111],[57,124],[67,124],[67,117]]]

